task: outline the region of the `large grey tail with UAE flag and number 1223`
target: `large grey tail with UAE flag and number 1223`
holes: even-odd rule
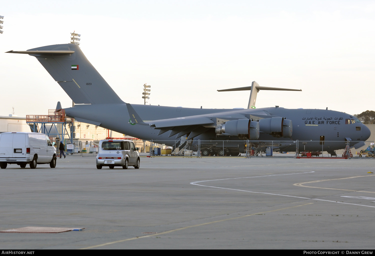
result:
[[[87,60],[78,45],[48,45],[8,53],[36,57],[76,104],[124,103]]]

